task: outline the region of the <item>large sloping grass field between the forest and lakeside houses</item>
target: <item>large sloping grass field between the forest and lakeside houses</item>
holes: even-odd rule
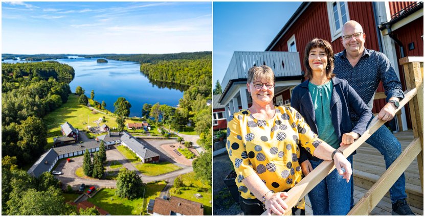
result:
[[[102,113],[92,114],[92,111],[86,106],[78,104],[77,95],[70,94],[68,97],[68,102],[63,104],[58,109],[50,112],[43,118],[44,123],[46,124],[46,127],[48,129],[48,147],[46,148],[52,148],[53,137],[62,135],[60,132],[61,124],[68,122],[74,128],[77,128],[78,130],[82,131],[86,130],[87,126],[96,126],[93,121],[99,119],[100,117],[105,117],[106,122],[104,124],[108,125],[110,128],[117,126],[115,117]],[[89,134],[87,134],[87,136],[89,136]]]

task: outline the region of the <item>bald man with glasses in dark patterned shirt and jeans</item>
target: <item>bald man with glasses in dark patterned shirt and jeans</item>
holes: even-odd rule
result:
[[[394,67],[383,53],[365,48],[366,34],[360,23],[354,20],[347,21],[342,28],[341,36],[341,43],[345,49],[335,54],[333,73],[337,74],[338,78],[347,80],[370,109],[373,107],[375,91],[382,81],[387,104],[379,111],[378,118],[388,122],[393,119],[399,100],[405,97]],[[359,116],[353,111],[350,111],[350,117],[354,123],[359,120]],[[366,142],[384,155],[387,169],[401,154],[400,142],[384,125]],[[406,178],[402,174],[390,188],[393,215],[415,215],[406,203],[405,184]],[[353,186],[351,190],[353,191]]]

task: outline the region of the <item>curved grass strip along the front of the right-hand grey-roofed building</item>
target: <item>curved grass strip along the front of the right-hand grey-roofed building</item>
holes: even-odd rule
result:
[[[169,162],[161,163],[140,163],[135,158],[133,152],[126,149],[125,146],[117,146],[119,152],[126,157],[141,173],[146,176],[158,176],[164,173],[169,173],[175,170],[180,170],[182,167],[176,166]]]

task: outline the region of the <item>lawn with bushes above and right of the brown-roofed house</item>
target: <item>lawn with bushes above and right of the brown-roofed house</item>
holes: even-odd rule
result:
[[[195,173],[194,172],[182,174],[178,177],[180,179],[182,179],[183,184],[185,186],[204,188],[204,189],[208,189],[208,191],[207,192],[198,192],[198,191],[195,191],[195,190],[180,190],[181,191],[180,194],[171,194],[171,196],[176,196],[176,197],[184,198],[184,199],[187,199],[187,200],[190,200],[190,201],[202,203],[202,204],[204,204],[204,215],[211,215],[212,214],[212,208],[211,208],[211,204],[210,204],[210,201],[212,201],[211,185],[204,184],[202,181],[195,179]],[[196,198],[195,194],[202,195],[202,198],[199,198],[199,199]]]

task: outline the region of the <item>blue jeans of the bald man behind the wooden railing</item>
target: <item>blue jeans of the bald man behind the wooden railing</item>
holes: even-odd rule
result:
[[[373,119],[373,117],[372,117]],[[353,123],[354,124],[354,123]],[[369,122],[370,124],[370,122]],[[391,164],[401,154],[401,144],[395,138],[395,136],[383,125],[375,133],[372,134],[367,140],[373,148],[377,149],[384,155],[385,167],[391,166]],[[394,185],[390,188],[391,202],[395,203],[398,200],[406,199],[406,178],[405,173],[402,173],[400,178],[395,181]],[[351,188],[351,195],[354,193],[354,186]],[[354,201],[351,202],[351,207],[354,206]]]

